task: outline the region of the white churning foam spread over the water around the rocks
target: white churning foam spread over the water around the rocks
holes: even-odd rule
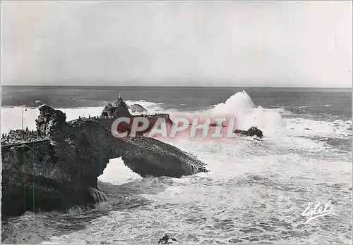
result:
[[[352,149],[327,144],[328,139],[352,142],[352,120],[313,120],[282,108],[262,108],[255,106],[246,92],[209,109],[189,112],[165,111],[160,103],[127,103],[139,103],[153,113],[171,113],[172,118],[236,116],[239,128],[257,126],[264,138],[160,138],[197,156],[210,170],[180,179],[141,178],[126,168],[121,158],[112,159],[98,179],[120,188],[126,196],[116,197],[109,192],[112,187],[103,185],[100,189],[106,188],[110,203],[128,203],[126,208],[112,209],[84,229],[52,237],[46,244],[155,244],[166,233],[183,244],[347,243],[352,238]],[[3,132],[20,127],[22,108],[2,110],[8,116],[1,117]],[[71,120],[78,115],[100,115],[102,108],[62,111]],[[25,124],[31,129],[34,125],[30,122],[39,112],[29,108],[26,113]],[[325,203],[330,199],[333,215],[304,225],[301,212],[309,201]]]

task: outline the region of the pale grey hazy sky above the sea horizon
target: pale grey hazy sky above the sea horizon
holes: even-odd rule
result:
[[[2,1],[1,83],[352,87],[352,1]]]

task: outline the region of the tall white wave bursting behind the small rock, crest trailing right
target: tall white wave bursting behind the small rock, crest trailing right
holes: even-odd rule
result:
[[[202,111],[203,115],[228,115],[237,118],[237,126],[241,130],[248,130],[256,126],[267,133],[301,136],[320,135],[325,137],[352,138],[352,120],[335,120],[333,122],[294,118],[284,108],[268,109],[255,106],[253,100],[245,91],[237,92],[224,103],[218,103],[210,110]],[[291,115],[282,118],[282,115]]]

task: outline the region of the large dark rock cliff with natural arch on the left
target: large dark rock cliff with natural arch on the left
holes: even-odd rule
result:
[[[143,177],[207,172],[189,153],[148,137],[115,138],[99,120],[72,126],[64,113],[42,106],[36,123],[34,134],[47,140],[1,146],[4,216],[94,203],[90,187],[111,158]]]

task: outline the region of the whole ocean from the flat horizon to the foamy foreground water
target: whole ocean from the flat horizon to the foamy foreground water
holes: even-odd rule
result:
[[[122,94],[151,113],[234,115],[252,137],[161,139],[210,172],[142,178],[111,159],[98,187],[108,201],[91,210],[27,212],[4,220],[3,243],[181,244],[352,242],[352,89],[259,87],[2,87],[1,131],[35,129],[37,106],[67,120],[100,115]],[[309,203],[331,213],[306,222]]]

